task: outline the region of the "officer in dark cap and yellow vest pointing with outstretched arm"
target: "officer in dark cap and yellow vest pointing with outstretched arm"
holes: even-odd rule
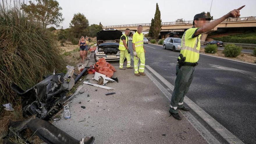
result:
[[[183,100],[185,94],[189,90],[189,86],[193,80],[195,66],[198,65],[200,37],[201,33],[205,33],[214,29],[218,24],[228,17],[239,17],[240,11],[244,6],[234,9],[223,17],[210,22],[210,18],[206,13],[196,14],[193,21],[193,27],[186,30],[182,36],[182,48],[176,65],[176,80],[170,103],[170,114],[177,120],[181,120],[178,109],[189,111],[184,107]]]

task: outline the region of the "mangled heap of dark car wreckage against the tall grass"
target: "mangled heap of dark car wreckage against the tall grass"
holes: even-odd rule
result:
[[[67,73],[50,75],[32,88],[24,91],[16,84],[11,88],[22,97],[22,110],[25,117],[36,115],[38,118],[49,120],[63,108],[60,100],[74,86],[74,67],[67,66]]]

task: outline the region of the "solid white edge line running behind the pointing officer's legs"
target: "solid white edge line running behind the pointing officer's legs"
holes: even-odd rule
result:
[[[163,78],[160,74],[158,74],[154,69],[152,69],[149,65],[145,65],[145,67],[152,72],[160,81],[162,81],[170,90],[173,91],[174,86],[168,82],[165,78]],[[148,72],[147,72],[148,75]],[[160,89],[161,90],[161,89]],[[170,98],[168,98],[170,100]],[[206,113],[203,109],[201,109],[197,104],[195,104],[188,97],[184,97],[184,102],[198,115],[202,120],[204,120],[211,128],[213,128],[218,134],[220,134],[228,143],[232,144],[244,144],[239,138],[234,136],[230,131],[228,131],[223,125],[218,123],[213,117],[211,117],[208,113]]]

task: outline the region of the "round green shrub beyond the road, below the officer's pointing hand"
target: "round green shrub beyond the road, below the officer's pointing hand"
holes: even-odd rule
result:
[[[241,47],[235,46],[234,44],[225,45],[224,55],[226,57],[237,57],[241,53]]]

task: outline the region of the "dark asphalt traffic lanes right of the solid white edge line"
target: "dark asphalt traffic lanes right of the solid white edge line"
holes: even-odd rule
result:
[[[174,85],[179,52],[145,49],[146,65]],[[186,96],[244,143],[256,143],[256,65],[200,55]]]

